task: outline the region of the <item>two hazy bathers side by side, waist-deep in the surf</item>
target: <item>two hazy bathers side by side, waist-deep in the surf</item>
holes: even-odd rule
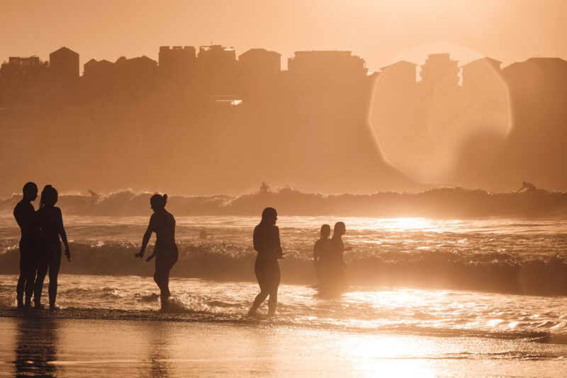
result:
[[[346,233],[347,227],[344,222],[335,223],[332,238],[331,226],[321,226],[320,238],[313,246],[313,263],[319,281],[319,289],[341,289],[347,286],[347,275],[344,269],[344,251],[352,248],[344,248],[342,235]]]

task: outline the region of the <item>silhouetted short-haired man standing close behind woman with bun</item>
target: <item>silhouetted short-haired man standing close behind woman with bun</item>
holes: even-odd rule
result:
[[[18,308],[24,306],[23,294],[26,292],[26,307],[31,306],[35,280],[35,258],[38,250],[38,220],[32,201],[38,198],[38,186],[28,182],[23,186],[23,199],[13,209],[13,216],[21,230],[20,238],[20,277],[16,286]]]

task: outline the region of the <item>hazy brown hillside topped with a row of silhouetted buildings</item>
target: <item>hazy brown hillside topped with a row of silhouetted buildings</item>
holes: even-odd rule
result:
[[[176,190],[315,176],[326,191],[374,191],[382,182],[412,190],[415,183],[377,160],[370,106],[379,114],[374,130],[388,128],[382,137],[391,145],[413,143],[422,157],[410,177],[420,179],[432,162],[444,165],[457,140],[462,154],[454,169],[462,173],[447,184],[505,190],[529,179],[567,189],[567,62],[534,57],[500,65],[483,57],[459,67],[447,53],[432,54],[417,81],[412,62],[369,74],[363,58],[337,50],[297,51],[282,70],[281,55],[263,48],[237,56],[223,45],[162,46],[159,62],[91,59],[82,75],[79,54],[69,48],[52,52],[49,62],[9,57],[0,67],[0,168],[16,173],[4,174],[0,189],[11,193],[28,179],[18,172],[63,187],[88,180],[89,172],[100,174],[97,190],[149,187],[137,168],[144,167]],[[474,137],[461,139],[467,133]],[[257,156],[270,156],[269,163]],[[164,159],[170,169],[162,169]],[[322,162],[333,169],[321,169]],[[172,178],[172,170],[187,178]]]

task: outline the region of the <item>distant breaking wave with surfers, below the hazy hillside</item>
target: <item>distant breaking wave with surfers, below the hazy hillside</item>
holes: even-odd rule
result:
[[[96,196],[63,195],[65,213],[95,216],[146,215],[150,193],[116,191]],[[21,196],[0,200],[0,212],[10,212]],[[567,212],[567,193],[542,189],[523,193],[490,193],[481,189],[438,188],[422,193],[308,194],[283,188],[242,196],[171,196],[175,215],[257,215],[266,206],[297,216],[549,216]]]

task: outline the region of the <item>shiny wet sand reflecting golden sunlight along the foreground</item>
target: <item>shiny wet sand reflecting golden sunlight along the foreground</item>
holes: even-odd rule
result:
[[[561,377],[561,344],[256,323],[0,318],[0,375]]]

